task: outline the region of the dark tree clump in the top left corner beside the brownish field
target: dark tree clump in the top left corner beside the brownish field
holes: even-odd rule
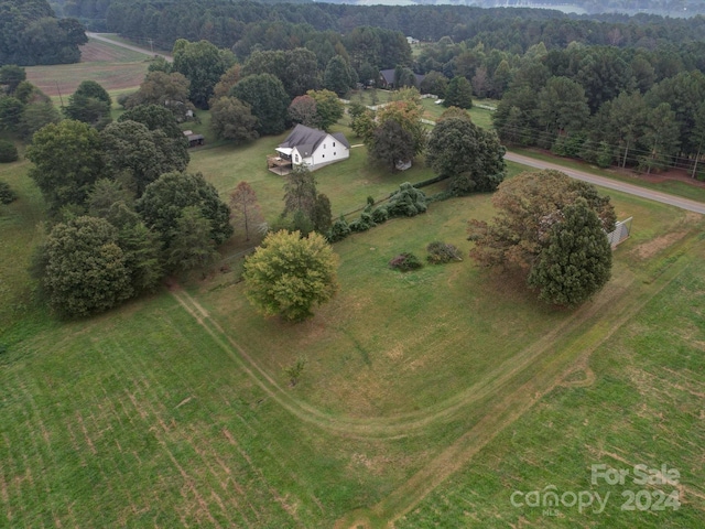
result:
[[[0,66],[80,61],[88,42],[76,19],[57,19],[46,0],[0,0]]]

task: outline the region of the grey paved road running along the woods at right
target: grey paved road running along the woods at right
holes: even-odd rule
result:
[[[620,191],[622,193],[628,193],[630,195],[640,196],[642,198],[648,198],[650,201],[669,204],[671,206],[680,207],[681,209],[686,209],[688,212],[695,212],[705,215],[705,203],[702,202],[681,198],[680,196],[670,195],[668,193],[661,193],[659,191],[648,190],[638,185],[627,184],[616,180],[606,179],[604,176],[597,176],[584,171],[564,168],[563,165],[558,165],[557,163],[534,160],[532,158],[516,154],[513,152],[508,152],[507,154],[505,154],[505,159],[536,169],[555,169],[557,171],[564,172],[573,179],[583,180],[585,182],[589,182],[590,184],[607,187],[609,190]]]

